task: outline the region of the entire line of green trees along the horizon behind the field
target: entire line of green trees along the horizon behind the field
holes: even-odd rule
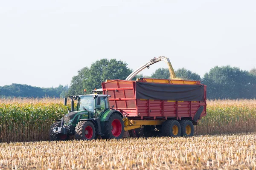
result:
[[[57,88],[38,88],[29,85],[12,84],[0,87],[0,96],[42,97],[90,94],[94,88],[102,88],[106,79],[126,79],[132,70],[123,61],[101,59],[90,67],[84,67],[72,78],[70,87],[59,85]],[[204,77],[185,68],[175,71],[177,77],[185,80],[197,80],[207,85],[208,99],[251,99],[256,98],[256,68],[243,71],[237,67],[222,66],[211,68]],[[157,78],[170,79],[167,68],[159,68],[150,76],[139,74],[134,79]]]

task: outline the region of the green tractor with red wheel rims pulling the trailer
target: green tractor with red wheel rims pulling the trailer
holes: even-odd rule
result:
[[[96,138],[120,139],[124,134],[123,115],[110,108],[105,94],[67,96],[71,99],[71,110],[51,125],[50,140],[68,140],[70,136],[80,140]],[[65,97],[64,105],[67,105]],[[74,110],[74,100],[77,108]]]

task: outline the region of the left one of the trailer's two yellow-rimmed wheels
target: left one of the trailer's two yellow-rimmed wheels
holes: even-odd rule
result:
[[[166,120],[162,125],[162,135],[179,137],[181,133],[180,123],[177,120]]]

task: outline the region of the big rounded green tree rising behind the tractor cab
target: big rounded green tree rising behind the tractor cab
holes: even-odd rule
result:
[[[81,94],[83,89],[90,94],[94,88],[102,88],[101,83],[106,79],[126,79],[131,72],[125,62],[116,59],[97,60],[90,68],[82,68],[78,75],[72,78],[69,94]]]

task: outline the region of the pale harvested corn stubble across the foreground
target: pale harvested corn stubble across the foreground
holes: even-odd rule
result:
[[[0,144],[0,169],[250,169],[256,133]]]

